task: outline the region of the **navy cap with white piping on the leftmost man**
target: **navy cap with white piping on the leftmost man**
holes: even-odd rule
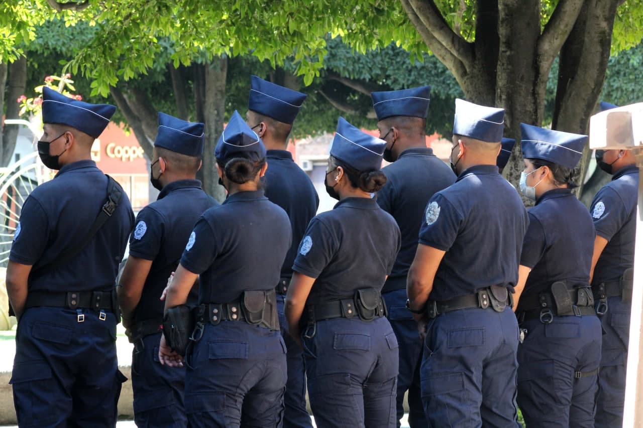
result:
[[[116,107],[110,104],[86,103],[49,87],[42,88],[42,123],[68,125],[98,138],[115,111]]]

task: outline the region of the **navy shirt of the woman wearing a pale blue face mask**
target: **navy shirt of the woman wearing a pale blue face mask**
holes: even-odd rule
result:
[[[587,287],[593,248],[592,217],[572,191],[543,193],[529,210],[520,264],[532,270],[522,295],[549,290],[556,281]]]

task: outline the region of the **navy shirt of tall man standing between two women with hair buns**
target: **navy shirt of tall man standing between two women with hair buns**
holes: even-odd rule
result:
[[[289,151],[268,150],[266,159],[266,197],[284,209],[293,230],[293,244],[285,257],[281,273],[282,278],[291,278],[297,247],[306,227],[317,213],[320,198],[308,174],[294,163],[293,155]]]

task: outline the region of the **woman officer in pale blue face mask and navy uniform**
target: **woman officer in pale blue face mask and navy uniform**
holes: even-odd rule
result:
[[[522,123],[521,192],[536,201],[520,256],[518,406],[527,426],[593,427],[601,325],[589,288],[594,227],[572,194],[587,137]]]

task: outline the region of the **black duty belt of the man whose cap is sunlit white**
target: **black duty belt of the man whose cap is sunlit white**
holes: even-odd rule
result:
[[[458,309],[493,308],[496,312],[502,312],[505,307],[512,307],[513,302],[513,296],[507,287],[494,285],[475,294],[466,294],[446,301],[430,300],[426,304],[426,314],[432,319]]]

